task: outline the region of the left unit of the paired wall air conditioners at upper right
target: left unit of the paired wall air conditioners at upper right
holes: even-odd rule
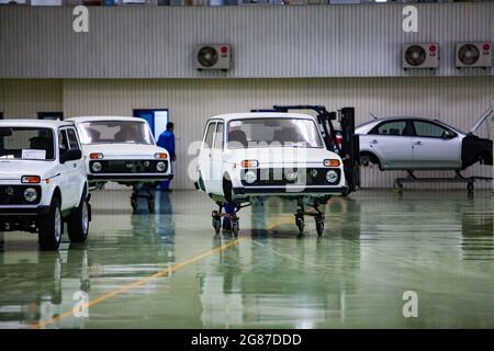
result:
[[[429,44],[405,44],[402,52],[402,68],[429,68],[439,67],[439,45]]]

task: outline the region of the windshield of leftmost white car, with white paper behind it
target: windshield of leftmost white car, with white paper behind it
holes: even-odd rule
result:
[[[0,160],[53,160],[53,131],[33,127],[0,127]]]

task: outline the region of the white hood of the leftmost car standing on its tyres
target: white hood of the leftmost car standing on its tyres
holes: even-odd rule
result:
[[[53,161],[0,160],[0,179],[20,180],[22,176],[49,178],[54,174]]]

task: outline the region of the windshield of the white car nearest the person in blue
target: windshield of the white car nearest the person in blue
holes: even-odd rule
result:
[[[146,122],[94,121],[80,124],[82,144],[153,144]]]

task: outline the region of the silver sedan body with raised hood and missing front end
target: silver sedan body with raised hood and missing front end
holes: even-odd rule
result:
[[[469,133],[437,120],[380,118],[356,128],[360,161],[381,170],[463,170],[476,162],[492,165],[492,140],[473,133],[491,115],[481,116]]]

